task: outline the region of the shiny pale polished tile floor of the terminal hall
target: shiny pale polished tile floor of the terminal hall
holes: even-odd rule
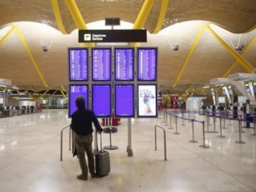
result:
[[[158,119],[132,119],[132,151],[127,156],[127,119],[121,120],[109,151],[111,173],[103,178],[78,180],[80,173],[76,157],[69,151],[69,131],[64,130],[63,161],[60,161],[61,129],[69,125],[66,110],[44,110],[0,119],[0,191],[256,191],[256,136],[252,128],[244,128],[239,140],[237,121],[226,122],[226,138],[218,133],[206,133],[203,144],[202,123],[173,118],[172,127]],[[187,118],[189,118],[187,116]],[[202,115],[195,115],[205,120]],[[169,116],[168,116],[169,124]],[[154,124],[166,130],[167,161],[164,161],[163,130],[157,129],[155,151]],[[183,124],[183,125],[182,125]],[[212,124],[212,122],[211,122]],[[213,130],[210,125],[209,130]],[[207,129],[207,126],[205,126]],[[109,135],[103,133],[103,146],[109,145]]]

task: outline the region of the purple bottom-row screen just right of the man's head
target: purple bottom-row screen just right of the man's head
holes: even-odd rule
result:
[[[92,85],[92,109],[97,117],[111,117],[111,85]]]

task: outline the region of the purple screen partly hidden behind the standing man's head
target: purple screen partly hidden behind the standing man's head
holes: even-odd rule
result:
[[[88,107],[88,85],[69,85],[69,117],[77,110],[75,99],[78,96],[85,98],[85,107]]]

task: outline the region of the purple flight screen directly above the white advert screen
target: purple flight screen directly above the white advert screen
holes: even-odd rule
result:
[[[138,81],[156,81],[157,48],[137,48]]]

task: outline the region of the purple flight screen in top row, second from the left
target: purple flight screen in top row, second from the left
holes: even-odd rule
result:
[[[92,49],[92,80],[111,80],[111,48]]]

